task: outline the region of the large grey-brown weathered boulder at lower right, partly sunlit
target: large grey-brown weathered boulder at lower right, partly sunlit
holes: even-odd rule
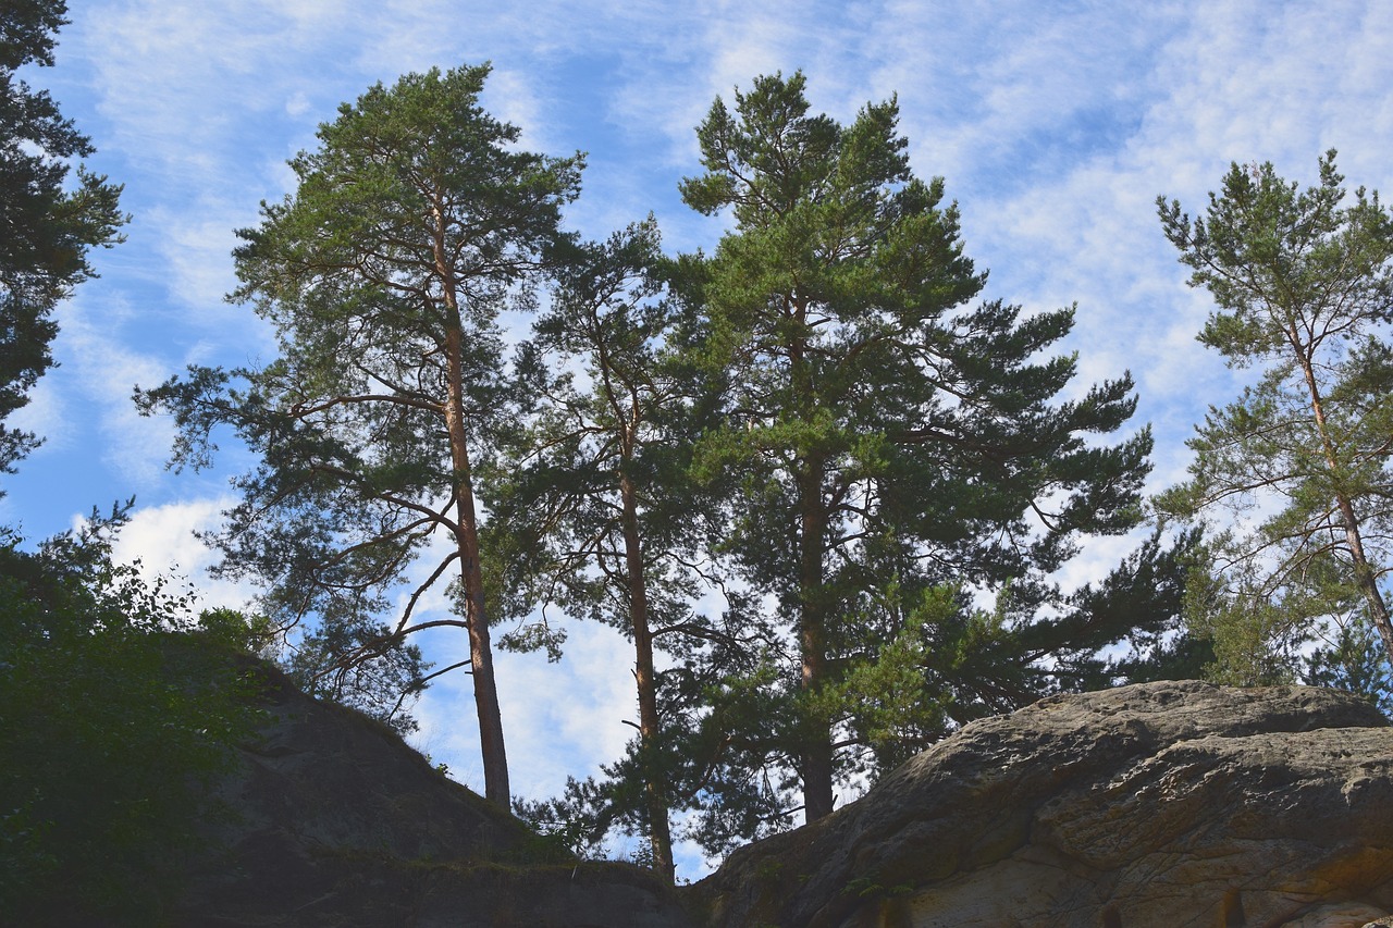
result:
[[[1393,729],[1301,687],[1053,697],[691,893],[730,927],[1358,928],[1393,910]]]

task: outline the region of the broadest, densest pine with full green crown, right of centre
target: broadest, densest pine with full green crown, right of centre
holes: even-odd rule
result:
[[[673,658],[656,673],[660,734],[547,805],[592,842],[651,832],[656,772],[687,836],[723,854],[787,828],[818,776],[830,796],[1048,693],[1185,673],[1192,648],[1178,626],[1195,535],[1152,538],[1096,587],[1048,580],[1080,536],[1135,523],[1149,449],[1145,432],[1085,440],[1130,415],[1126,379],[1056,401],[1073,358],[1039,358],[1071,312],[965,305],[982,277],[942,183],[910,176],[893,103],[840,127],[807,114],[795,75],[737,105],[712,109],[710,173],[684,184],[698,209],[730,208],[737,233],[715,259],[667,265],[681,311],[664,362],[687,365],[680,408],[702,412],[637,447],[680,467],[630,471],[660,516],[645,563],[701,539],[727,608],[657,640]],[[614,524],[617,482],[574,464],[538,479],[610,486],[598,513]],[[628,614],[623,571],[581,578],[589,602]],[[974,605],[983,591],[995,609]]]

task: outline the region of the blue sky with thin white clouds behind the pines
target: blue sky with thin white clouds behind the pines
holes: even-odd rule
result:
[[[163,470],[171,426],[130,401],[188,362],[267,359],[269,333],[233,288],[233,230],[290,192],[286,160],[371,84],[493,63],[492,113],[524,144],[588,152],[570,224],[588,237],[653,212],[671,251],[713,248],[720,219],[687,209],[694,127],[717,95],[802,70],[815,110],[848,120],[898,95],[914,170],[943,176],[988,297],[1078,304],[1067,347],[1080,389],[1130,369],[1137,425],[1156,435],[1151,489],[1184,472],[1185,438],[1234,375],[1194,341],[1208,298],[1160,234],[1155,198],[1204,208],[1230,162],[1315,180],[1340,150],[1350,187],[1393,190],[1393,4],[1254,1],[527,3],[460,0],[71,0],[57,67],[31,70],[89,134],[89,166],[125,184],[128,241],[60,307],[60,368],[15,425],[47,443],[6,481],[0,523],[61,531],[137,496],[120,553],[177,567],[210,602],[191,532],[216,524],[234,449],[215,472]],[[1087,580],[1133,545],[1092,545]],[[464,641],[430,641],[444,665]],[[627,647],[577,627],[566,662],[501,655],[514,790],[553,794],[618,755],[634,718]],[[418,744],[482,786],[468,679],[422,702]],[[545,694],[539,698],[538,694]],[[620,849],[623,850],[623,849]],[[688,875],[699,871],[691,857]]]

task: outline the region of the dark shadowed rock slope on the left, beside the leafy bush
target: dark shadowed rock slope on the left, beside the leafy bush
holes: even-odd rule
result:
[[[389,729],[267,674],[267,722],[223,787],[219,849],[173,925],[676,928],[637,867],[564,860]]]

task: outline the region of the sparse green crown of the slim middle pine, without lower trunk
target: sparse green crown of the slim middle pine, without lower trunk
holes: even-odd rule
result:
[[[632,635],[639,581],[663,624],[685,612],[692,582],[678,562],[701,542],[701,500],[685,465],[699,421],[692,385],[662,347],[678,325],[673,301],[660,298],[663,263],[652,219],[571,251],[550,308],[520,347],[518,399],[531,428],[500,436],[506,454],[482,488],[501,614],[563,606]],[[642,577],[627,563],[625,493]],[[559,647],[564,634],[522,635],[534,638]]]

